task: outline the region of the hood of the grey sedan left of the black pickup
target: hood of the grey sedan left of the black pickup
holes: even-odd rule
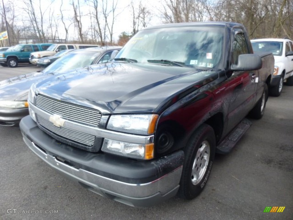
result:
[[[32,72],[1,81],[0,100],[14,101],[18,99],[18,101],[26,101],[30,86],[45,76],[48,75],[43,72]]]

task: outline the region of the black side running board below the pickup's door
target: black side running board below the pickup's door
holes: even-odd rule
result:
[[[219,143],[216,147],[216,153],[219,154],[227,154],[232,148],[236,145],[239,139],[243,136],[243,134],[247,131],[247,129],[251,126],[251,122],[244,118],[225,138]]]

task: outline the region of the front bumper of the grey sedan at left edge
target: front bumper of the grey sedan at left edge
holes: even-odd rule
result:
[[[0,107],[0,125],[2,126],[15,126],[18,125],[20,120],[27,116],[28,108],[10,109]]]

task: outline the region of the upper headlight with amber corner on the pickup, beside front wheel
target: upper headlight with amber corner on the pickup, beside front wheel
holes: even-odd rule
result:
[[[107,129],[148,135],[155,132],[157,119],[158,115],[156,114],[112,115],[108,121]]]

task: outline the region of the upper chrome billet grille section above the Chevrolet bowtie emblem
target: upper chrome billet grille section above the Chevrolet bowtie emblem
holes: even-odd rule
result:
[[[98,126],[101,113],[96,109],[53,99],[44,95],[36,96],[36,106],[50,114],[58,114],[62,119]]]

